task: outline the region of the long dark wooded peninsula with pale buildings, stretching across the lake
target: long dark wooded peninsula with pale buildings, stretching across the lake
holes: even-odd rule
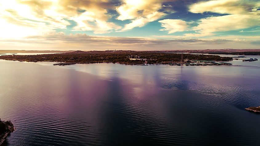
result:
[[[4,55],[0,59],[13,61],[53,61],[65,63],[101,63],[113,62],[122,64],[140,64],[145,61],[148,64],[169,64],[183,60],[207,60],[207,61],[231,61],[232,57],[220,57],[218,55],[202,55],[188,53],[167,53],[160,51],[131,51],[131,50],[107,50],[107,51],[73,51],[67,53],[41,54],[41,55]],[[68,64],[69,65],[69,64]]]

